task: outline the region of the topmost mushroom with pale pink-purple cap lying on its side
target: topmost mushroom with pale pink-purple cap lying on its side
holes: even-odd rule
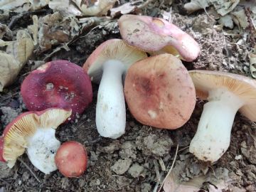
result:
[[[149,53],[171,53],[192,61],[201,52],[188,33],[163,18],[127,14],[119,18],[118,25],[125,43]]]

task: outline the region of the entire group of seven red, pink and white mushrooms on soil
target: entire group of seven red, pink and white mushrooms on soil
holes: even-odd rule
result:
[[[195,60],[200,46],[162,18],[124,15],[118,25],[122,40],[102,43],[82,68],[68,60],[53,60],[26,77],[21,96],[30,111],[4,129],[0,161],[12,167],[26,151],[45,174],[56,169],[68,177],[83,174],[85,146],[75,141],[60,145],[55,129],[73,122],[92,102],[91,81],[100,84],[95,122],[102,137],[117,139],[124,134],[125,101],[138,122],[177,129],[190,119],[198,96],[208,102],[189,150],[198,159],[214,162],[228,149],[238,110],[256,121],[255,80],[206,70],[188,72],[181,60]]]

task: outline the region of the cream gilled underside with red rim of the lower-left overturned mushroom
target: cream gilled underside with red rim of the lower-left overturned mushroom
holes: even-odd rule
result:
[[[25,112],[20,114],[4,129],[3,158],[9,167],[14,166],[28,146],[28,137],[37,129],[56,129],[70,117],[71,110],[50,108],[41,112]]]

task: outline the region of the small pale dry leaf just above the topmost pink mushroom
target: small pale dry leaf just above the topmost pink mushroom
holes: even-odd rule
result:
[[[133,1],[133,2],[129,2],[127,4],[123,4],[122,6],[117,6],[116,8],[112,8],[110,9],[110,15],[112,17],[117,16],[118,14],[129,14],[133,11],[135,11],[137,9],[137,6],[139,4],[142,4],[143,1],[139,0],[139,1]]]

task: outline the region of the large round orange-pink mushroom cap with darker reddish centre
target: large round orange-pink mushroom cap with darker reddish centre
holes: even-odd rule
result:
[[[135,119],[164,129],[181,127],[196,105],[188,70],[181,60],[167,53],[134,63],[127,71],[124,95]]]

